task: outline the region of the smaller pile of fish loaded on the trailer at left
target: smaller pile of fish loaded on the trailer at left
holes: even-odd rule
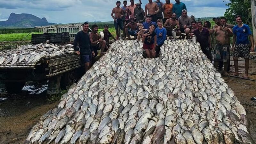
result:
[[[41,58],[74,53],[73,45],[27,44],[16,49],[0,51],[0,66],[35,65]]]

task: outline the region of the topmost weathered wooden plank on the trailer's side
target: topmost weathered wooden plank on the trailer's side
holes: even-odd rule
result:
[[[48,67],[52,67],[52,66],[61,65],[61,64],[68,63],[68,62],[75,61],[75,60],[79,60],[79,59],[80,59],[80,56],[73,55],[73,56],[64,57],[64,58],[47,60],[47,63],[48,63]]]

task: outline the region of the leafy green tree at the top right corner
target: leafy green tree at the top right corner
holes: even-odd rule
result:
[[[224,13],[229,23],[236,24],[235,16],[240,15],[243,23],[252,26],[251,0],[224,0],[223,2],[229,2],[226,4],[229,8]]]

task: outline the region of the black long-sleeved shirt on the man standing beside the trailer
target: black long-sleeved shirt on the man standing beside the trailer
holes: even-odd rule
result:
[[[77,42],[79,43],[80,50],[77,47]],[[81,55],[90,54],[93,52],[89,33],[84,33],[84,31],[81,30],[76,34],[74,40],[74,50],[75,52],[80,51]]]

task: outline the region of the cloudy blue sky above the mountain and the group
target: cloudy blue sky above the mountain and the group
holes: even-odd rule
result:
[[[94,20],[112,21],[111,12],[117,0],[0,0],[0,21],[14,13],[29,13],[45,17],[53,23],[76,23]],[[127,0],[130,5],[130,0]],[[142,8],[148,0],[141,0]],[[154,1],[154,0],[153,0]],[[165,0],[160,0],[165,3]],[[223,16],[228,8],[223,0],[180,0],[186,4],[188,15],[200,17]],[[135,0],[134,3],[138,3]],[[171,3],[175,4],[174,0]],[[123,0],[121,0],[123,6]]]

